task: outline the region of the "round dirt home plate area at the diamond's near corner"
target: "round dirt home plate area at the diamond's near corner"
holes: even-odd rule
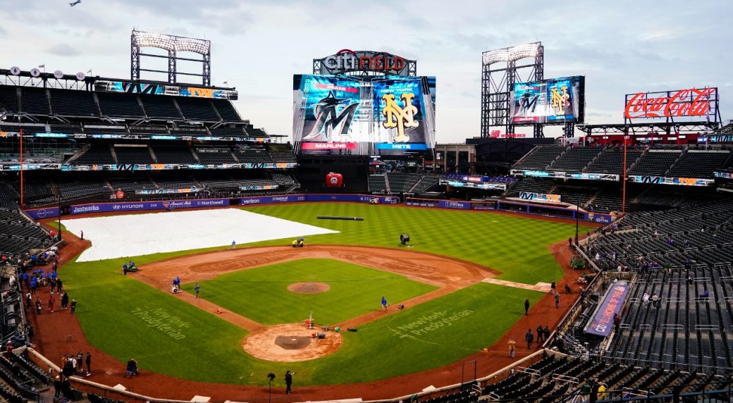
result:
[[[270,326],[246,337],[242,347],[262,360],[283,363],[314,360],[339,350],[342,344],[341,333],[325,332],[325,339],[312,337],[321,331],[302,324]]]

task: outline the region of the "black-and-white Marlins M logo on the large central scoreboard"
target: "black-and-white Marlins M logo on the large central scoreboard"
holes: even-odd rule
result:
[[[326,140],[334,140],[331,135],[348,137],[349,127],[354,119],[357,102],[347,104],[349,100],[342,100],[334,96],[334,92],[328,92],[328,96],[319,100],[313,106],[313,114],[316,117],[316,123],[310,133],[303,137],[303,140],[313,140],[315,138],[325,137]],[[344,140],[341,138],[340,140]]]

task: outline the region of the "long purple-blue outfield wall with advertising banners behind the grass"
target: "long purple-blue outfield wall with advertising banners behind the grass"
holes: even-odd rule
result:
[[[71,215],[86,214],[89,212],[127,212],[127,211],[149,211],[149,210],[179,210],[205,207],[227,207],[232,205],[250,206],[257,204],[280,204],[298,202],[371,202],[377,199],[380,204],[397,204],[397,196],[377,196],[369,194],[289,194],[279,196],[251,196],[236,199],[182,199],[166,200],[158,202],[109,202],[109,203],[87,203],[72,204],[68,213]],[[528,204],[521,202],[490,201],[490,202],[464,202],[460,200],[439,200],[439,199],[414,199],[405,198],[405,205],[412,207],[432,207],[452,210],[502,210],[509,212],[520,212],[531,215],[553,216],[567,218],[570,220],[588,221],[592,223],[608,224],[614,221],[615,215],[584,212],[571,208],[554,207],[544,204]],[[36,220],[56,217],[59,215],[59,207],[45,207],[40,209],[25,210],[26,213]],[[65,211],[62,211],[65,212]]]

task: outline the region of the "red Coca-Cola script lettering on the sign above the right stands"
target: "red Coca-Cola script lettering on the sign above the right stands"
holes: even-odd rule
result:
[[[670,94],[669,97],[650,97],[644,92],[633,95],[626,103],[626,119],[705,116],[711,113],[710,103],[715,99],[716,89],[680,89]]]

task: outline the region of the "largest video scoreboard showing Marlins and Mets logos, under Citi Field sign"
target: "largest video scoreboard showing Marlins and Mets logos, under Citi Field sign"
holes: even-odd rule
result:
[[[395,155],[435,146],[435,77],[295,75],[293,139],[304,154]]]

